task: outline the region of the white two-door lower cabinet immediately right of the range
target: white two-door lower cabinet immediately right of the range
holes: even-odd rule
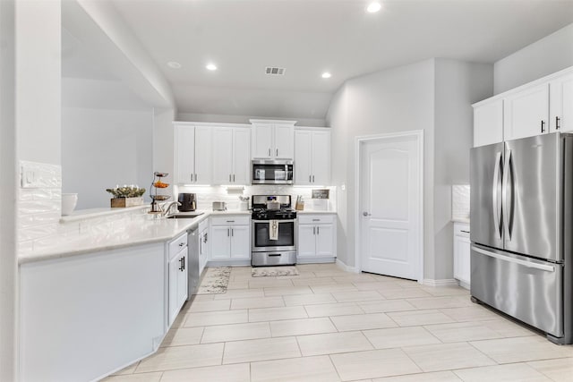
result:
[[[297,262],[336,258],[336,215],[297,216]]]

